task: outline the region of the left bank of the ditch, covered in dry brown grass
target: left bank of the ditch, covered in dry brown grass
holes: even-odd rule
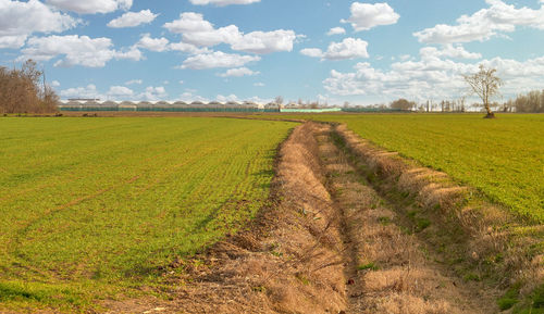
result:
[[[346,310],[338,215],[322,184],[318,143],[311,134],[310,125],[299,126],[282,145],[273,204],[246,231],[214,244],[194,261],[174,265],[174,273],[183,272],[165,278],[174,299],[160,304],[165,312]]]

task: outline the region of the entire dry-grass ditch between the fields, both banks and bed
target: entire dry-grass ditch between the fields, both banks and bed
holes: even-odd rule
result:
[[[435,262],[450,252],[432,249],[446,239],[437,237],[444,228],[460,226],[466,236],[444,243],[456,254],[461,250],[479,269],[485,256],[506,248],[509,235],[489,223],[504,215],[459,206],[469,192],[465,187],[341,127],[336,131],[354,155],[380,177],[379,189],[399,188],[418,201],[392,203],[364,183],[332,142],[331,131],[321,124],[297,127],[280,151],[273,205],[247,231],[175,265],[174,271],[184,271],[166,277],[174,301],[150,307],[159,304],[169,313],[496,313],[497,291],[463,280]],[[413,209],[430,218],[425,230],[415,233],[407,218]],[[450,214],[443,218],[444,213]],[[523,264],[523,276],[542,277],[542,256],[530,262],[518,254],[504,265]]]

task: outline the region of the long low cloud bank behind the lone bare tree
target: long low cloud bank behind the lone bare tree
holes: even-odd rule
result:
[[[331,71],[323,81],[324,88],[334,95],[385,96],[390,99],[409,98],[413,100],[458,98],[467,96],[467,85],[462,75],[479,71],[479,64],[497,68],[505,81],[502,92],[514,96],[522,91],[542,87],[544,79],[544,56],[519,62],[494,58],[479,63],[466,63],[445,58],[441,51],[420,51],[420,60],[403,61],[391,65],[387,71],[374,68],[370,63],[357,63],[353,72]]]

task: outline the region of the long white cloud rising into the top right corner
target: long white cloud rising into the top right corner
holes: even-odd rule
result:
[[[500,0],[486,0],[490,8],[457,18],[457,25],[438,24],[413,33],[420,42],[454,43],[485,41],[492,37],[512,33],[517,26],[544,29],[544,5],[539,10],[527,7],[516,9]],[[541,1],[541,3],[544,3]]]

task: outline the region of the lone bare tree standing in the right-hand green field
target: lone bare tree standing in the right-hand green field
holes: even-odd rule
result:
[[[503,85],[500,77],[496,75],[496,68],[485,68],[480,65],[480,71],[473,75],[465,75],[465,81],[470,86],[471,93],[478,95],[483,102],[483,106],[487,112],[485,117],[495,117],[490,108],[490,99],[498,95],[498,89]]]

